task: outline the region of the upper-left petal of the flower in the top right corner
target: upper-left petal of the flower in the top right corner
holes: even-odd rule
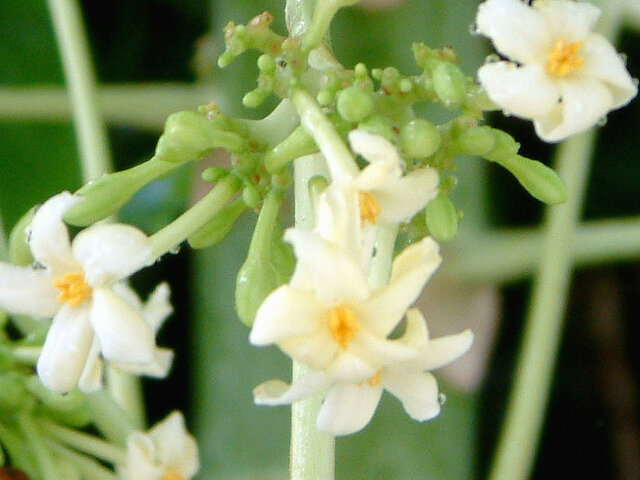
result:
[[[496,49],[520,63],[539,61],[549,49],[545,19],[521,0],[488,0],[478,7],[478,33]]]

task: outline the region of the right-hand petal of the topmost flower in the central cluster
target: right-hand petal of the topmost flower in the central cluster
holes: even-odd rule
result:
[[[438,194],[440,177],[435,168],[421,168],[373,192],[382,224],[409,220]]]

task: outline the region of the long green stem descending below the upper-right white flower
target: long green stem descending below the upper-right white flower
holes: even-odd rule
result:
[[[557,151],[558,173],[568,201],[548,207],[546,236],[534,283],[516,378],[489,478],[528,478],[535,460],[562,335],[571,280],[571,247],[579,221],[595,134],[573,137]]]

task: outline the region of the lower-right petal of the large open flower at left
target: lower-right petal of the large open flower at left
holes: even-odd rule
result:
[[[154,360],[153,330],[139,312],[111,289],[93,290],[89,321],[106,360],[142,364]]]

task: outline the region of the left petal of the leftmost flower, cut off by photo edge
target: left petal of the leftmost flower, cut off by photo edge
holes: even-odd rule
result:
[[[62,304],[46,270],[0,262],[0,308],[38,318],[53,317]]]

